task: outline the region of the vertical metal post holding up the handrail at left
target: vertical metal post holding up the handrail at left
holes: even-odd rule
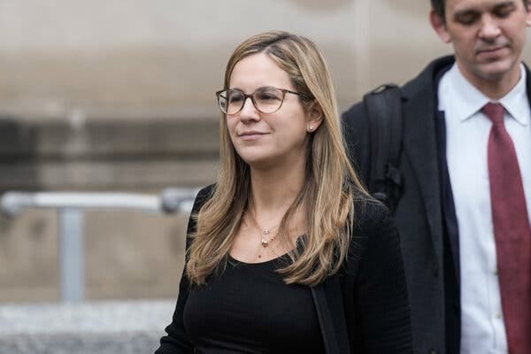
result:
[[[77,208],[61,208],[58,217],[61,299],[81,302],[85,298],[83,212]]]

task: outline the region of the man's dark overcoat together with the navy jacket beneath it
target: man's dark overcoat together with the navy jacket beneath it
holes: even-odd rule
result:
[[[438,58],[402,88],[404,133],[399,170],[404,191],[396,206],[412,306],[417,353],[458,353],[460,340],[458,227],[446,170],[438,80],[454,63]],[[527,71],[527,92],[531,90]],[[351,159],[362,180],[370,169],[369,127],[363,104],[342,116]]]

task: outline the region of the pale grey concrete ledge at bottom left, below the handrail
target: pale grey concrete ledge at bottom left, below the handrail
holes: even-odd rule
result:
[[[152,353],[175,300],[0,306],[0,353]]]

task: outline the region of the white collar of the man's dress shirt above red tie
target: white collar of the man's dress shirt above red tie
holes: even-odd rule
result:
[[[450,92],[452,92],[451,99],[458,100],[455,102],[459,102],[454,107],[454,113],[457,119],[466,120],[473,117],[485,104],[492,101],[466,80],[465,76],[459,71],[457,64],[451,67],[448,75],[450,79]],[[529,124],[531,119],[529,104],[527,102],[526,75],[524,65],[520,64],[519,81],[507,95],[497,101],[503,104],[505,110],[524,126]]]

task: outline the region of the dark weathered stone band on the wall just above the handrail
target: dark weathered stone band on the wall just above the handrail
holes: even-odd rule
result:
[[[205,185],[218,158],[219,118],[0,115],[0,192]]]

